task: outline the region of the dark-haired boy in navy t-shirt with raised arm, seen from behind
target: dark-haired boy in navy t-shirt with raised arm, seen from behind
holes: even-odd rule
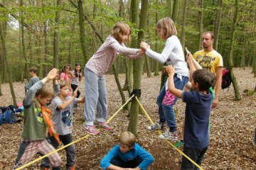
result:
[[[183,153],[200,165],[209,146],[209,118],[215,86],[215,75],[206,69],[198,69],[192,74],[193,91],[181,91],[174,86],[174,67],[166,67],[169,75],[168,89],[171,94],[186,103]],[[186,157],[182,157],[181,169],[197,169]]]

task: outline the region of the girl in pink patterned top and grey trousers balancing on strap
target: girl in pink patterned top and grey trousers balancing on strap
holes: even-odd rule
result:
[[[114,63],[119,54],[131,59],[144,55],[142,49],[128,48],[124,45],[131,34],[131,29],[122,21],[117,22],[112,34],[95,52],[85,65],[85,123],[82,130],[97,135],[97,127],[103,130],[111,130],[107,125],[107,90],[105,85],[105,73]]]

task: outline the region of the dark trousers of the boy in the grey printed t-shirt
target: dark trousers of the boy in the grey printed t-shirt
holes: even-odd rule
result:
[[[59,135],[59,137],[60,137],[60,141],[63,142],[63,145],[68,145],[69,143],[73,142],[71,134]],[[48,142],[50,142],[50,144],[53,145],[53,147],[55,149],[57,149],[59,146],[58,142],[55,140],[55,138],[53,136],[50,137],[50,135],[48,135]],[[75,164],[75,145],[73,144],[73,145],[66,147],[65,151],[66,151],[66,155],[67,155],[66,166],[68,168]],[[43,159],[42,166],[50,167],[50,161],[48,158]]]

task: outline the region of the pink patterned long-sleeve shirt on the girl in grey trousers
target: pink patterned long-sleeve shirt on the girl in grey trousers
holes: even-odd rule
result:
[[[103,76],[119,54],[131,59],[142,56],[139,49],[128,48],[124,43],[119,43],[112,35],[109,35],[85,66],[98,76]]]

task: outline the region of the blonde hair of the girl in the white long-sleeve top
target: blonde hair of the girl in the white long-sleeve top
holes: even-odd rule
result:
[[[174,21],[169,17],[161,18],[156,23],[156,28],[160,29],[161,36],[164,39],[171,37],[171,35],[177,35]]]

